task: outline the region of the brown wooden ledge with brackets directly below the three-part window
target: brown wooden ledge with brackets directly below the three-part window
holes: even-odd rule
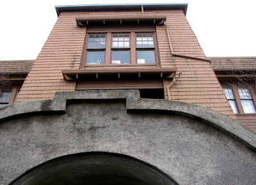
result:
[[[63,78],[67,81],[86,78],[163,78],[170,79],[175,75],[173,68],[143,68],[143,69],[86,69],[86,70],[63,70]]]

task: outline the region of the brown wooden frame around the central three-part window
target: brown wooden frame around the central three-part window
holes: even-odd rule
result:
[[[106,43],[105,43],[105,55],[104,55],[104,64],[86,64],[86,59],[88,56],[88,50],[100,50],[100,49],[91,49],[88,48],[88,41],[90,34],[106,34]],[[113,34],[129,34],[130,47],[128,48],[113,48]],[[145,63],[145,64],[137,64],[137,47],[136,47],[136,34],[153,34],[154,41],[154,55],[155,55],[155,63]],[[148,50],[148,48],[138,48],[139,50]],[[130,63],[129,64],[111,64],[112,61],[112,50],[130,50]],[[81,57],[81,66],[80,69],[84,69],[86,67],[104,67],[104,66],[159,66],[159,50],[157,45],[157,36],[156,36],[156,27],[154,29],[152,27],[94,27],[93,29],[88,29],[86,31],[86,39],[84,41],[84,49]]]

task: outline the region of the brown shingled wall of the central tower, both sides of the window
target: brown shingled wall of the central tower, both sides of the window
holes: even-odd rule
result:
[[[76,26],[76,17],[141,16],[141,11],[63,12],[33,65],[16,99],[52,99],[57,91],[74,91],[76,82],[65,82],[61,70],[79,69],[86,29]],[[205,57],[182,10],[144,11],[144,15],[166,15],[168,29],[177,54]],[[177,68],[177,82],[171,89],[172,100],[212,108],[236,119],[209,62],[170,54],[164,26],[157,26],[159,55],[163,68]],[[180,75],[179,75],[180,73]],[[168,81],[164,82],[166,86]]]

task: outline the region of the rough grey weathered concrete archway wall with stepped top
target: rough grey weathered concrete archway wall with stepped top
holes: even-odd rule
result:
[[[0,184],[81,152],[131,156],[179,184],[256,184],[255,133],[189,103],[76,91],[1,108],[0,119]]]

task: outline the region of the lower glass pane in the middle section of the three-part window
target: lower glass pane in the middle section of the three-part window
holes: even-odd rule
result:
[[[113,50],[112,64],[129,64],[130,62],[129,50]]]

